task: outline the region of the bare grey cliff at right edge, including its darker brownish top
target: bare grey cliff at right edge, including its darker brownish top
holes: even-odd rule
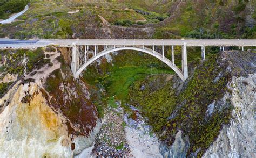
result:
[[[224,61],[229,62],[233,75],[228,89],[234,109],[229,125],[223,127],[204,157],[255,157],[255,53],[225,53]]]

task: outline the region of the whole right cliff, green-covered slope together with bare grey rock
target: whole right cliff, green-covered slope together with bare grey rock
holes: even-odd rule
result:
[[[132,86],[132,104],[158,133],[164,157],[255,156],[255,57],[225,51],[191,70],[184,83],[158,75]]]

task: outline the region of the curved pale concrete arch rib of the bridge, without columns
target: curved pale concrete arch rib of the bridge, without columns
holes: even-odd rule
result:
[[[111,48],[109,50],[106,51],[102,51],[96,54],[96,56],[93,56],[92,58],[90,58],[89,60],[87,60],[74,74],[75,78],[78,78],[80,73],[82,73],[82,71],[89,66],[93,61],[96,61],[97,59],[99,59],[100,57],[112,53],[112,52],[116,52],[116,51],[123,51],[123,50],[131,50],[131,51],[139,51],[139,52],[144,52],[147,54],[150,54],[154,57],[156,57],[157,59],[159,59],[160,61],[163,61],[165,64],[167,64],[167,66],[169,66],[180,78],[181,80],[185,81],[185,77],[182,73],[182,71],[175,65],[173,64],[169,59],[167,59],[165,56],[163,56],[162,54],[158,53],[157,51],[153,51],[150,48],[138,48],[138,47],[117,47],[117,48]]]

